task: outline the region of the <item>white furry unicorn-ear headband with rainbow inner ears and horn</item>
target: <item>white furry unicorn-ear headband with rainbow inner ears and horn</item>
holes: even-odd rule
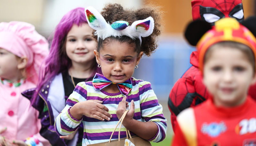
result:
[[[152,17],[137,20],[131,26],[128,26],[129,24],[126,21],[116,21],[110,25],[93,7],[89,6],[84,11],[89,26],[96,30],[95,35],[98,36],[98,40],[99,38],[104,40],[110,36],[128,36],[132,39],[139,38],[141,43],[141,37],[151,35],[154,29],[154,19]]]

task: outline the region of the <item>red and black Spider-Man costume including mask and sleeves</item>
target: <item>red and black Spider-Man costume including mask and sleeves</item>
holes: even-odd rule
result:
[[[193,0],[191,6],[194,21],[204,20],[213,25],[223,17],[233,17],[239,22],[244,20],[242,0]],[[176,116],[185,108],[195,106],[209,97],[198,69],[197,51],[191,53],[190,63],[192,66],[175,83],[168,99],[174,132],[177,124]],[[255,88],[256,85],[249,90],[249,95],[254,99],[256,99]]]

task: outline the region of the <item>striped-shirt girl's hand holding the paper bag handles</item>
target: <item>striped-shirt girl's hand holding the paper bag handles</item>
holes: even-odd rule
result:
[[[119,102],[117,110],[116,110],[116,115],[117,115],[118,119],[120,119],[122,117],[122,115],[124,114],[124,112],[126,111],[126,108],[129,106],[128,103],[129,102],[126,101],[126,96],[124,96],[122,101]],[[133,104],[133,107],[132,107],[132,104]],[[132,108],[133,108],[133,111],[130,111]],[[134,115],[134,102],[133,102],[133,100],[131,102],[131,109],[128,111],[128,113],[126,114],[125,117],[130,117],[132,112],[133,112],[132,117],[131,117],[133,119],[133,115]]]

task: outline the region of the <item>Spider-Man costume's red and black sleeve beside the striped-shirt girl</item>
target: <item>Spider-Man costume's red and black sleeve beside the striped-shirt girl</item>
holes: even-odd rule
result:
[[[171,112],[172,127],[175,132],[176,116],[184,109],[195,106],[208,98],[206,87],[198,67],[191,66],[172,88],[168,108]]]

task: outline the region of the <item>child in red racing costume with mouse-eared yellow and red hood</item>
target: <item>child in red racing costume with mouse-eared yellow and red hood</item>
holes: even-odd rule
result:
[[[256,102],[247,95],[256,82],[255,22],[256,17],[243,25],[223,18],[213,28],[203,21],[188,26],[185,36],[197,44],[198,66],[211,96],[177,116],[173,146],[256,144]]]

